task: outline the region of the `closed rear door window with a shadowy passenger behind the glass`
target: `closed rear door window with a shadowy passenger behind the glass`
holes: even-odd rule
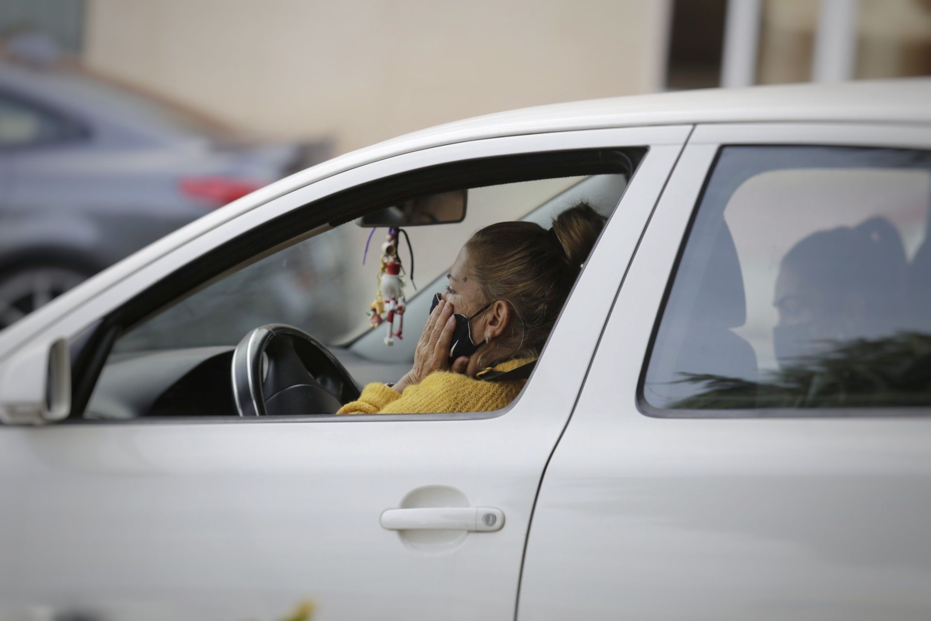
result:
[[[647,358],[645,412],[931,404],[929,206],[928,152],[723,148]]]

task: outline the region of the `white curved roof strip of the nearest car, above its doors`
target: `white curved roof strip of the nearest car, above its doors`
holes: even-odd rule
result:
[[[155,241],[0,331],[0,359],[10,353],[12,346],[47,327],[74,304],[108,289],[191,239],[304,185],[386,157],[456,142],[595,128],[805,121],[926,124],[931,123],[928,101],[931,78],[708,89],[559,103],[423,129],[297,172]]]

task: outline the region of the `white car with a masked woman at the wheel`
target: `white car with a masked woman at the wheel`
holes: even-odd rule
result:
[[[929,101],[485,116],[117,263],[0,332],[0,618],[931,618]],[[356,222],[463,189],[387,347]],[[331,413],[407,371],[473,231],[580,199],[610,219],[515,402]]]

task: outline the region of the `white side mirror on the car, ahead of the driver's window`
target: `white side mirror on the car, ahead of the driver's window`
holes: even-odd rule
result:
[[[0,363],[0,422],[43,425],[71,412],[71,357],[56,339],[21,350]]]

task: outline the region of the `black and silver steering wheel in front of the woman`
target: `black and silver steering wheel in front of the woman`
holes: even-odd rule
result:
[[[240,416],[331,414],[358,398],[358,385],[305,331],[270,323],[233,352],[233,395]]]

